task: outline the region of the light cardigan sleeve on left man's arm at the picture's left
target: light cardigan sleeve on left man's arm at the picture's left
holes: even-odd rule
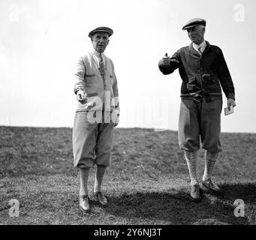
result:
[[[77,68],[74,74],[74,93],[77,94],[79,90],[85,92],[85,82],[84,76],[86,74],[86,65],[84,63],[83,57],[80,57],[77,62]]]

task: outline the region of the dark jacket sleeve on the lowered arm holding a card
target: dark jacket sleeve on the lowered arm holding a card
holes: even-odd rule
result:
[[[226,98],[233,98],[233,100],[235,100],[235,89],[233,87],[233,81],[221,49],[218,49],[218,54],[218,80],[221,83],[221,88],[223,89]]]

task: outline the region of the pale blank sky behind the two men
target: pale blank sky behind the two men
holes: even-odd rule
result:
[[[255,10],[253,0],[2,0],[0,125],[72,127],[77,59],[92,49],[89,31],[108,26],[119,127],[177,130],[182,81],[178,71],[161,74],[158,62],[190,43],[181,28],[201,17],[236,89],[237,106],[232,115],[221,113],[221,130],[256,133]]]

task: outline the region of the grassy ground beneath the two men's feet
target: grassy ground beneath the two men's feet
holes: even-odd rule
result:
[[[176,131],[116,128],[103,185],[110,204],[101,208],[92,200],[91,214],[78,208],[71,128],[0,127],[0,134],[0,224],[256,223],[254,133],[221,134],[224,151],[213,172],[221,193],[203,190],[195,203]],[[20,217],[9,217],[10,199],[19,200]],[[235,199],[244,200],[245,217],[234,216]]]

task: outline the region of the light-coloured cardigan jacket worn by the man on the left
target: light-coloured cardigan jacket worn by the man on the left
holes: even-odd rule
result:
[[[82,90],[86,99],[83,103],[78,102],[77,111],[119,111],[119,92],[113,61],[106,55],[104,58],[104,77],[101,77],[93,51],[86,52],[79,58],[74,74],[74,93]]]

